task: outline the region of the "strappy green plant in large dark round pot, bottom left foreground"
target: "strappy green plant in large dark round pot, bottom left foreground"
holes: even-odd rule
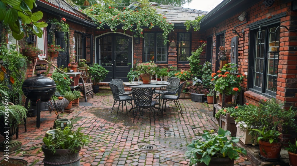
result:
[[[42,151],[44,153],[44,164],[47,165],[80,165],[78,152],[80,148],[89,143],[88,135],[84,135],[78,130],[71,130],[65,127],[64,130],[56,129],[52,135],[43,138],[44,144]]]

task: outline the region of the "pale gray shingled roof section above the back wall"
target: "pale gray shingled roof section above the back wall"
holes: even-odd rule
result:
[[[159,4],[155,6],[158,13],[165,15],[169,23],[184,23],[186,20],[195,20],[196,17],[206,15],[208,12],[189,9],[184,7],[176,7],[171,5]]]

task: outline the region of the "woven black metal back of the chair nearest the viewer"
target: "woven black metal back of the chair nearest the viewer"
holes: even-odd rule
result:
[[[135,105],[139,107],[151,107],[154,90],[155,88],[132,88]]]

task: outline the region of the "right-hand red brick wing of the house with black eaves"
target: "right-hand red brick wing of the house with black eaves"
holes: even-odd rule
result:
[[[296,5],[285,0],[224,0],[201,20],[200,33],[212,46],[206,60],[211,59],[213,71],[219,69],[222,45],[229,62],[238,64],[238,73],[247,75],[241,83],[244,103],[276,98],[286,101],[286,108],[297,107]]]

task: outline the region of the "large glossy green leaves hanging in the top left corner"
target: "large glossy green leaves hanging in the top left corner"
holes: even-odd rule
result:
[[[42,19],[42,12],[32,12],[36,7],[35,0],[1,0],[0,21],[8,23],[12,36],[16,40],[23,39],[24,34],[36,34],[42,37],[42,29],[48,26],[45,22],[38,22]]]

